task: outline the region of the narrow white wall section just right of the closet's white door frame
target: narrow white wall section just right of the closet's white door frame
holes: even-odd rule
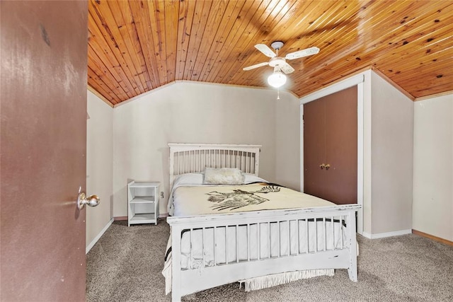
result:
[[[413,101],[372,72],[372,234],[412,228]]]

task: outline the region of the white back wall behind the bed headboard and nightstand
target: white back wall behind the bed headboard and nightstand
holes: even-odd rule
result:
[[[178,82],[151,91],[113,110],[113,216],[127,216],[127,181],[154,180],[164,186],[160,212],[168,200],[168,143],[260,144],[260,177],[277,182],[277,175],[297,175],[297,165],[277,168],[277,133],[280,142],[297,140],[299,127],[279,122],[297,102],[285,92],[197,82]],[[276,109],[279,104],[282,105]],[[294,108],[298,111],[298,108]],[[291,113],[291,114],[290,114]],[[289,119],[288,119],[289,120]],[[282,138],[285,130],[288,137]],[[299,155],[287,161],[297,161]],[[281,163],[279,161],[279,163]],[[291,176],[289,176],[291,177]],[[286,178],[282,185],[295,183]]]

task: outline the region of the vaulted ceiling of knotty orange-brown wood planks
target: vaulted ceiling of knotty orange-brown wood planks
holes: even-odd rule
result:
[[[88,86],[112,105],[173,81],[268,87],[254,45],[285,42],[299,97],[373,68],[406,95],[453,91],[453,1],[89,0]]]

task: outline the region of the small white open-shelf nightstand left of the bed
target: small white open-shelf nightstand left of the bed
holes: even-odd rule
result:
[[[138,223],[157,224],[159,218],[160,182],[127,184],[127,226]]]

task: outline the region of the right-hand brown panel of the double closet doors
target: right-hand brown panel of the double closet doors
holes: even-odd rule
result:
[[[336,204],[357,203],[357,86],[338,91],[326,102],[325,198]]]

